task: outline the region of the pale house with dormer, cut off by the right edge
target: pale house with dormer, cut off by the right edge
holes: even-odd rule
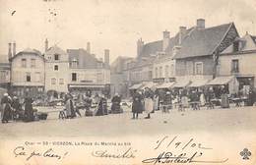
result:
[[[233,76],[239,83],[239,89],[256,86],[256,36],[246,33],[237,37],[220,54],[218,77]]]

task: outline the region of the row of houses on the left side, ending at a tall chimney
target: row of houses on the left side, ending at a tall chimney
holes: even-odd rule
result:
[[[8,61],[1,61],[0,84],[18,96],[27,93],[33,96],[49,91],[81,92],[97,91],[109,93],[109,50],[104,50],[104,61],[87,49],[67,49],[53,45],[45,51],[27,48],[16,53],[16,43],[9,43]]]

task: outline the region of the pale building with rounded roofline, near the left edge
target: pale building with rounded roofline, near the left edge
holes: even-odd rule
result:
[[[35,49],[27,48],[10,59],[11,91],[23,96],[36,96],[44,91],[44,57]]]

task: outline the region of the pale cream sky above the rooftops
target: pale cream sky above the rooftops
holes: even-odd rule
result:
[[[48,38],[50,46],[64,50],[91,42],[96,57],[110,49],[113,61],[135,57],[139,38],[160,40],[165,29],[173,36],[199,18],[206,27],[233,22],[241,36],[256,34],[255,15],[255,0],[0,0],[0,55],[13,41],[17,52],[28,47],[43,52]]]

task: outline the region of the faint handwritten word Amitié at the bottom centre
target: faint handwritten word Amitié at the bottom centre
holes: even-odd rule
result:
[[[119,152],[119,153],[110,153],[108,150],[96,150],[92,152],[92,155],[95,157],[104,157],[104,158],[135,158],[135,153],[137,150],[132,149],[131,147]]]

